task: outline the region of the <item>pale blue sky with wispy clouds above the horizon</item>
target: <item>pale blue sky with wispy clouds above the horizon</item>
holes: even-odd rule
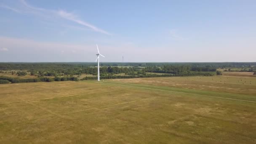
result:
[[[255,0],[1,0],[0,61],[256,61]]]

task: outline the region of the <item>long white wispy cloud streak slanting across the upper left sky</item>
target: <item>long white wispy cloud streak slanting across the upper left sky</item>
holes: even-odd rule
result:
[[[45,9],[45,8],[38,8],[38,7],[30,5],[25,0],[20,0],[20,2],[22,4],[22,6],[24,6],[26,8],[26,10],[21,10],[21,9],[18,10],[16,8],[12,8],[8,5],[0,5],[0,7],[14,11],[16,13],[32,13],[35,15],[43,16],[43,17],[48,17],[48,18],[51,17],[53,19],[56,17],[59,17],[62,19],[73,21],[73,22],[80,24],[84,27],[88,27],[89,29],[92,29],[95,32],[100,32],[100,33],[103,33],[106,35],[112,35],[109,32],[107,32],[103,29],[100,29],[99,27],[94,26],[93,24],[90,24],[86,21],[81,20],[79,18],[79,16],[75,15],[74,13],[69,13],[69,12],[63,11],[63,10],[56,11],[56,10],[49,10],[49,9]]]

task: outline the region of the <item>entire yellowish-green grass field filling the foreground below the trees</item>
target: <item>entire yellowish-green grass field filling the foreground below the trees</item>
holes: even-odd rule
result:
[[[3,144],[256,143],[256,77],[3,84],[0,130]]]

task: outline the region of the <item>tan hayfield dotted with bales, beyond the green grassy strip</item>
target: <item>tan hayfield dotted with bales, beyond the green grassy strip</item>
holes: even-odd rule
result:
[[[256,77],[153,77],[136,79],[113,79],[109,81],[256,96]]]

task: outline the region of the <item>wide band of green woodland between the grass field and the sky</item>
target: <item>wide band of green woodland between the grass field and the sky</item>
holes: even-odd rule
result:
[[[101,63],[101,79],[175,77],[192,75],[222,75],[217,68],[256,72],[256,63]],[[96,80],[96,63],[0,63],[0,73],[18,77],[0,76],[0,83],[51,82],[65,80]],[[31,75],[33,78],[22,78]],[[76,75],[76,76],[74,76]],[[80,77],[80,75],[91,75]]]

